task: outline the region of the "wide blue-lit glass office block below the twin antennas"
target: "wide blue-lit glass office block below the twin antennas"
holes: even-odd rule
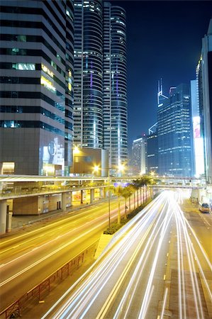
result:
[[[172,88],[169,98],[158,93],[158,172],[160,175],[191,177],[192,129],[189,85]]]

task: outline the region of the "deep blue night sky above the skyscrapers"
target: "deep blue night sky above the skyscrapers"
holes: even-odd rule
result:
[[[195,79],[212,1],[110,1],[127,14],[128,148],[157,122],[157,81],[170,86]]]

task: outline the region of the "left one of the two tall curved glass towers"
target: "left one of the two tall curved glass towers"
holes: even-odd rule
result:
[[[74,1],[74,143],[103,147],[102,2]]]

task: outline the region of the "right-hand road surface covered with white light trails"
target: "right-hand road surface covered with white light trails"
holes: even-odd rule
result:
[[[44,318],[211,318],[212,220],[164,191]]]

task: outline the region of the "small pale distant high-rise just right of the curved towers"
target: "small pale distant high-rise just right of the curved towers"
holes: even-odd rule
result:
[[[142,175],[147,172],[147,138],[133,140],[132,167],[134,175]]]

